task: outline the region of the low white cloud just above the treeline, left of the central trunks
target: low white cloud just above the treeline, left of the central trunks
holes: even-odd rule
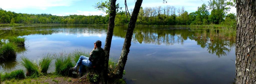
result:
[[[52,14],[52,15],[58,15],[58,16],[67,16],[67,15],[106,15],[106,13],[98,10],[98,11],[81,11],[77,10],[77,12],[71,12],[71,13],[61,13],[61,14]]]

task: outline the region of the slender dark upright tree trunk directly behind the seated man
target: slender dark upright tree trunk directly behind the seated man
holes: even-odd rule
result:
[[[104,78],[104,83],[107,83],[108,80],[108,63],[109,63],[109,52],[110,52],[110,47],[111,47],[111,41],[112,41],[112,36],[113,36],[113,30],[115,26],[115,16],[116,16],[116,0],[111,0],[110,2],[110,13],[109,13],[109,25],[108,25],[108,32],[106,36],[106,41],[105,41],[105,59],[104,59],[104,68],[103,68],[103,78]]]

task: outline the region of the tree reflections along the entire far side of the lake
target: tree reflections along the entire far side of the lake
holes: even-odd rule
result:
[[[114,36],[124,38],[126,34],[126,26],[115,26]],[[48,35],[53,33],[68,34],[105,34],[107,26],[102,25],[65,25],[65,26],[35,26],[20,27],[14,29],[0,29],[0,38],[7,36],[24,36],[24,35]],[[207,48],[211,54],[218,57],[225,56],[226,52],[234,46],[234,41],[215,38],[212,32],[214,29],[200,30],[175,27],[136,27],[133,33],[132,41],[134,43],[156,44],[156,45],[173,45],[184,44],[185,40],[195,40],[197,45]],[[216,32],[217,34],[218,32]]]

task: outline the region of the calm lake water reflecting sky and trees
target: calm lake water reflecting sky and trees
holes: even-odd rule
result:
[[[115,26],[110,58],[118,61],[126,26]],[[0,38],[26,37],[16,60],[1,71],[24,69],[20,57],[38,61],[43,55],[82,49],[90,52],[96,40],[105,43],[107,26],[62,25],[0,28]],[[128,84],[227,84],[235,78],[235,42],[212,36],[209,29],[181,26],[136,26],[125,65]],[[211,32],[217,32],[211,31]],[[54,72],[52,62],[50,72]],[[25,70],[25,69],[24,69]]]

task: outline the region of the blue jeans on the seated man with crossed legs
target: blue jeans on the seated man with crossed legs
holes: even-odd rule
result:
[[[82,64],[82,65],[81,65]],[[79,66],[80,65],[80,66]],[[86,56],[80,56],[79,57],[79,60],[77,61],[77,66],[79,66],[79,72],[81,73],[82,71],[82,68],[83,66],[87,66],[87,67],[90,67],[92,66],[92,62],[89,60],[89,57],[86,57]]]

